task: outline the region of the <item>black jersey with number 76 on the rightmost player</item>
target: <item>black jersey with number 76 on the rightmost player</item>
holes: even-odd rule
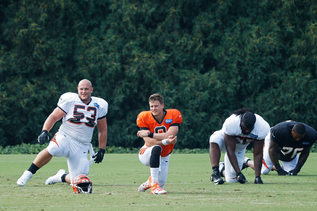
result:
[[[300,153],[304,148],[312,146],[317,140],[317,133],[314,128],[306,127],[305,136],[296,141],[292,137],[292,128],[299,122],[285,121],[278,123],[271,128],[270,139],[275,143],[279,144],[279,150],[277,151],[278,159],[281,161],[291,161],[298,153]]]

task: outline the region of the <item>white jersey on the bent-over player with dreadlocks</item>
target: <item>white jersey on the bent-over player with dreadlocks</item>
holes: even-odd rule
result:
[[[236,151],[243,150],[253,140],[262,140],[270,131],[268,123],[259,115],[256,115],[256,123],[254,124],[253,130],[249,134],[243,134],[240,122],[241,115],[236,116],[235,114],[230,115],[223,123],[221,132],[236,137]]]

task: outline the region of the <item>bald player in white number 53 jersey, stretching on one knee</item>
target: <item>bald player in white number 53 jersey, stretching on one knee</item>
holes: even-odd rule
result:
[[[108,103],[101,98],[91,96],[94,88],[87,79],[79,82],[77,90],[78,94],[68,92],[61,95],[57,107],[44,122],[38,141],[40,145],[47,141],[49,146],[42,150],[29,169],[24,171],[16,182],[18,185],[24,186],[33,174],[47,164],[53,156],[67,158],[69,174],[61,169],[55,176],[49,177],[45,184],[58,182],[71,184],[77,175],[87,175],[89,166],[94,161],[101,163],[103,160],[107,144]],[[48,132],[61,118],[63,118],[61,127],[49,141]],[[99,139],[97,153],[94,153],[90,143],[95,126],[98,128]]]

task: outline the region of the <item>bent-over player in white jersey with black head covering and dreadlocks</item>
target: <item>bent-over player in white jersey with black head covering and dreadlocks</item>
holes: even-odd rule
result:
[[[221,130],[210,136],[210,161],[212,175],[210,180],[214,184],[223,184],[225,177],[227,183],[247,182],[241,173],[246,147],[254,141],[253,156],[255,160],[256,179],[254,183],[263,184],[260,174],[263,157],[264,138],[270,126],[264,119],[255,114],[252,109],[242,108],[230,114]],[[221,152],[226,152],[224,163],[219,162]]]

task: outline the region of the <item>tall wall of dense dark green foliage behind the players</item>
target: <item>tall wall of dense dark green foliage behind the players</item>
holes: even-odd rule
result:
[[[0,146],[36,143],[83,78],[109,103],[108,146],[143,145],[136,116],[156,92],[182,112],[179,148],[207,148],[242,106],[270,126],[317,128],[316,11],[309,0],[2,0]]]

